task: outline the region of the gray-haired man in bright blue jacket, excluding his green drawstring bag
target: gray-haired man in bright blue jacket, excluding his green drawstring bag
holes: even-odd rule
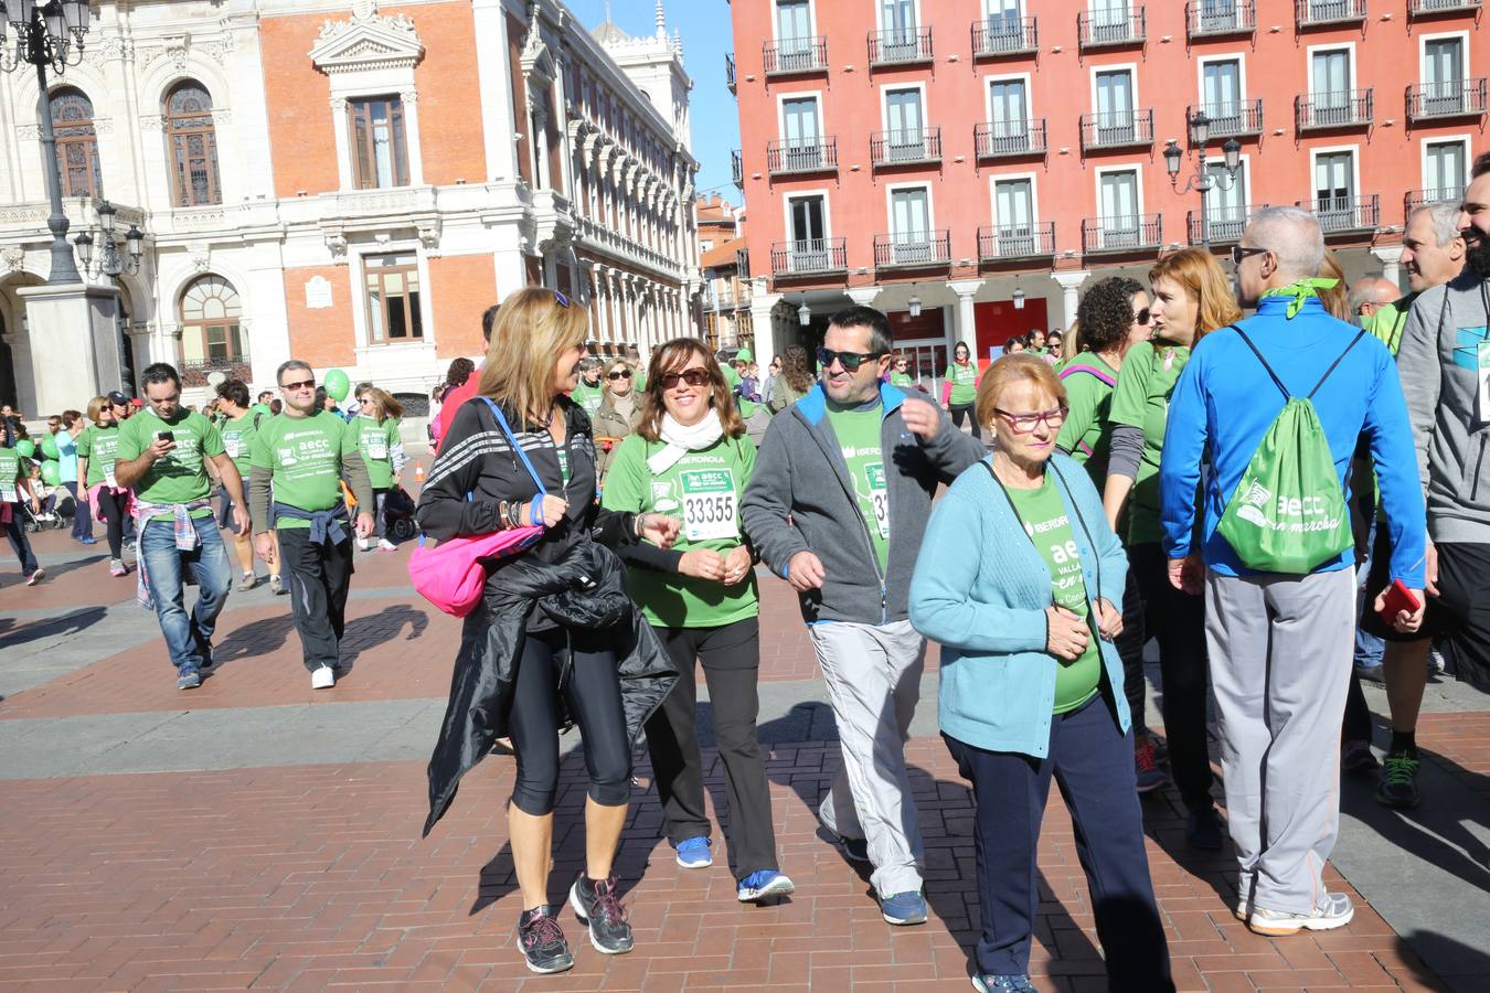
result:
[[[1331,317],[1314,295],[1325,261],[1319,220],[1293,207],[1262,210],[1232,258],[1240,302],[1258,313],[1207,335],[1180,375],[1159,467],[1161,514],[1171,582],[1205,593],[1226,814],[1241,869],[1237,916],[1255,932],[1290,935],[1341,927],[1354,914],[1350,898],[1326,892],[1323,878],[1340,828],[1340,771],[1325,758],[1337,749],[1350,677],[1354,549],[1307,575],[1259,573],[1217,531],[1284,405],[1262,360],[1290,396],[1308,396],[1320,383],[1311,399],[1342,488],[1356,442],[1368,439],[1390,572],[1418,604],[1426,520],[1392,354]],[[1207,448],[1213,472],[1195,548],[1193,499]],[[1396,616],[1404,631],[1421,621],[1421,607]]]

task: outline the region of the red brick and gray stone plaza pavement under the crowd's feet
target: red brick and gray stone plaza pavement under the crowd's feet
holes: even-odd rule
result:
[[[790,590],[763,575],[761,737],[796,896],[738,904],[723,852],[709,869],[679,869],[641,759],[617,863],[636,951],[596,953],[565,910],[577,966],[536,978],[513,933],[511,759],[483,762],[434,834],[419,835],[459,625],[414,594],[407,548],[358,557],[352,671],[335,689],[310,689],[289,600],[259,587],[228,600],[218,671],[179,692],[153,615],[134,604],[133,578],[109,578],[103,546],[64,531],[33,540],[40,587],[22,587],[15,560],[0,558],[0,989],[970,989],[971,807],[936,732],[934,651],[907,747],[925,926],[888,927],[866,875],[818,829],[817,799],[839,764],[833,719]],[[1384,712],[1381,694],[1368,695]],[[708,725],[702,689],[699,706]],[[1342,785],[1328,875],[1359,910],[1341,930],[1250,933],[1229,913],[1229,850],[1188,850],[1179,798],[1146,798],[1180,990],[1490,989],[1490,703],[1435,682],[1427,710],[1420,810],[1387,811],[1369,782]],[[708,770],[720,798],[723,768]],[[1031,971],[1042,992],[1103,990],[1053,794]],[[583,861],[583,799],[574,753],[556,899]]]

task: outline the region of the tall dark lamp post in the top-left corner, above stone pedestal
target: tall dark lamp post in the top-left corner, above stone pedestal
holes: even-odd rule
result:
[[[6,28],[15,31],[15,49],[6,45]],[[83,55],[88,34],[88,0],[0,0],[0,68],[15,71],[21,64],[36,66],[36,113],[42,125],[42,174],[52,214],[52,271],[48,286],[80,283],[73,247],[67,244],[67,214],[63,213],[63,177],[57,162],[57,134],[52,131],[52,97],[46,89],[46,70],[61,76]]]

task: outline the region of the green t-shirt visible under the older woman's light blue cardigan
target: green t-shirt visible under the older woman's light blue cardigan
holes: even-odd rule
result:
[[[1037,490],[1015,490],[1006,487],[1009,499],[1019,512],[1025,534],[1050,569],[1050,598],[1058,607],[1086,616],[1086,581],[1082,578],[1082,555],[1076,548],[1076,534],[1065,514],[1065,500],[1055,487],[1050,473]],[[1091,628],[1091,625],[1088,625]],[[1103,655],[1097,636],[1088,631],[1086,651],[1076,661],[1058,658],[1055,667],[1055,713],[1076,710],[1097,694],[1103,677]]]

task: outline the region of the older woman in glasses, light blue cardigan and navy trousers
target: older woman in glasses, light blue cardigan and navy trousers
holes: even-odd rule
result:
[[[1122,630],[1128,560],[1091,476],[1056,453],[1065,387],[1039,357],[983,377],[997,439],[931,514],[910,621],[942,643],[939,718],[973,785],[982,936],[973,986],[1034,990],[1036,849],[1050,779],[1071,813],[1113,993],[1173,990],[1134,782]]]

